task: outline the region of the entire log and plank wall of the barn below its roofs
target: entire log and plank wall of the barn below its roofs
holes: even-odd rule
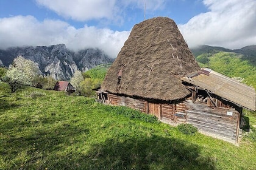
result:
[[[192,100],[177,104],[151,103],[114,94],[108,95],[108,101],[113,105],[128,106],[146,114],[155,115],[163,123],[174,126],[180,123],[190,123],[203,134],[235,144],[238,141],[240,113],[232,107],[209,107],[207,103],[193,103]]]

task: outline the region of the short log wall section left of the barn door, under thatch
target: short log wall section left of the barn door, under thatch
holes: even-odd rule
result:
[[[146,112],[144,100],[119,96],[115,94],[109,94],[108,100],[110,101],[110,104],[113,105],[127,106],[131,107],[132,109],[140,110],[141,112]]]

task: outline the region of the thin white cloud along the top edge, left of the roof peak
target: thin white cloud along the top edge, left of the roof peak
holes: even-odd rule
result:
[[[76,21],[91,19],[108,19],[114,22],[123,22],[123,12],[127,7],[147,10],[162,9],[166,0],[36,0],[39,5],[54,11],[64,18]]]

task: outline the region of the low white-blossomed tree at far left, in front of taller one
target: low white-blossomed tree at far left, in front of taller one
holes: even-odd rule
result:
[[[10,90],[13,93],[26,85],[31,85],[32,83],[24,72],[12,66],[9,68],[9,70],[7,70],[4,77],[2,77],[2,81],[9,84]]]

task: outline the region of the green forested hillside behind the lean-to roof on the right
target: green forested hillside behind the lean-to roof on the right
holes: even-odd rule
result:
[[[201,46],[191,51],[201,67],[208,67],[256,88],[256,46],[237,50]]]

